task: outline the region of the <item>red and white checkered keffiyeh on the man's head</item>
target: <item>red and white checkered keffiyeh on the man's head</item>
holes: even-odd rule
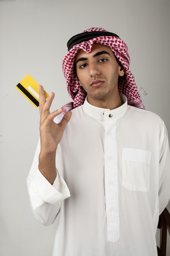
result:
[[[91,27],[83,32],[90,32],[90,31],[107,31],[102,27]],[[84,103],[86,98],[86,91],[81,89],[81,86],[78,82],[78,78],[76,72],[74,70],[74,62],[75,62],[75,55],[80,50],[83,49],[86,52],[90,52],[93,46],[93,43],[104,44],[110,46],[113,53],[117,57],[117,59],[121,62],[124,66],[124,70],[126,75],[121,76],[119,80],[119,92],[126,95],[128,98],[128,104],[132,106],[136,106],[139,108],[145,109],[141,96],[138,92],[137,85],[135,83],[134,75],[129,70],[130,65],[130,56],[128,53],[128,47],[126,43],[117,36],[99,36],[88,41],[83,41],[74,45],[65,55],[62,68],[63,73],[66,78],[67,83],[67,90],[71,98],[73,99],[73,103],[67,103],[64,105],[63,114],[68,111],[69,109],[75,108],[80,106]]]

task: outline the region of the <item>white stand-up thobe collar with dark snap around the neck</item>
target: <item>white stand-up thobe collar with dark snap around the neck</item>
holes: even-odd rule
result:
[[[115,109],[108,109],[91,105],[87,101],[87,97],[83,104],[83,110],[93,118],[103,120],[105,122],[112,122],[121,118],[127,111],[127,97],[120,93],[123,104]]]

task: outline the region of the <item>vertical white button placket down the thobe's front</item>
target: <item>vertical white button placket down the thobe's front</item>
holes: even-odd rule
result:
[[[109,115],[106,116],[108,120]],[[112,119],[111,117],[109,119]],[[119,239],[119,207],[117,182],[116,121],[106,122],[105,135],[105,193],[108,240]],[[114,232],[114,235],[113,235]]]

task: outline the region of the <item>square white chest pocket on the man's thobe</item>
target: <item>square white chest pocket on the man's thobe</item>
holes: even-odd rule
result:
[[[151,151],[123,148],[122,182],[129,190],[149,191]]]

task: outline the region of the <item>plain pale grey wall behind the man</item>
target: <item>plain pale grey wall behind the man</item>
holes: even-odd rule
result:
[[[126,41],[131,71],[148,93],[144,104],[170,136],[170,0],[0,0],[1,256],[50,256],[56,229],[39,224],[29,205],[39,113],[15,85],[29,73],[56,93],[52,109],[70,101],[61,69],[66,42],[91,26]]]

